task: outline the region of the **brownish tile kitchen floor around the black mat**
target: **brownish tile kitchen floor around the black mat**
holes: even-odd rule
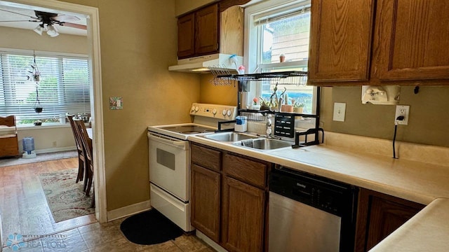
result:
[[[194,235],[182,235],[175,240],[162,244],[138,245],[128,241],[120,230],[120,223],[124,218],[109,223],[93,223],[66,232],[56,233],[48,237],[41,237],[26,241],[20,252],[213,252],[203,241]],[[13,251],[6,247],[4,252]]]

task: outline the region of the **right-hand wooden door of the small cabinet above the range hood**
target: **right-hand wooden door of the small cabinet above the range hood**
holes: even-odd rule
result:
[[[195,20],[196,54],[218,52],[218,4],[198,10]]]

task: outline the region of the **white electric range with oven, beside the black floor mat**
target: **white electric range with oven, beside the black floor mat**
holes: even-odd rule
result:
[[[193,123],[148,127],[151,206],[186,232],[190,225],[189,136],[215,132],[217,123],[235,120],[236,106],[192,104]]]

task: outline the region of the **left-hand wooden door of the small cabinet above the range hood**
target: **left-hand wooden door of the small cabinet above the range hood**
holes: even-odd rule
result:
[[[195,15],[190,13],[177,19],[177,57],[190,57],[195,53]]]

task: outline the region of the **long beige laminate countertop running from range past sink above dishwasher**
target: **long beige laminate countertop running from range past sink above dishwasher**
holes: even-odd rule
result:
[[[325,144],[255,151],[203,137],[189,140],[421,204],[429,204],[437,197],[449,198],[448,166],[357,153]]]

